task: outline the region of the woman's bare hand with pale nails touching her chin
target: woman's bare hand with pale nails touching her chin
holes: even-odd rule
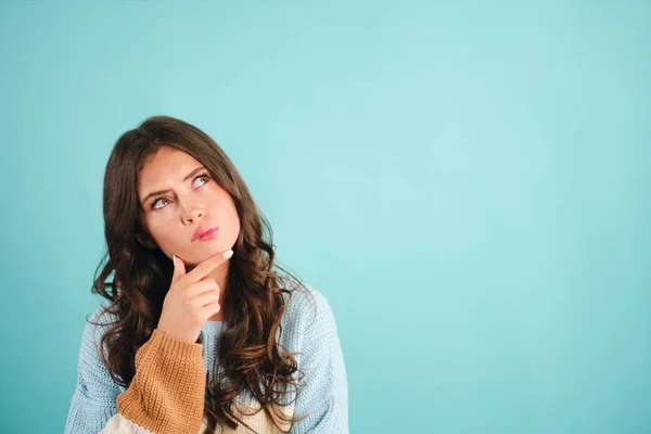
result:
[[[157,329],[179,340],[195,343],[208,318],[221,309],[220,289],[215,279],[206,276],[232,255],[230,248],[219,252],[187,275],[183,260],[175,257],[171,284],[163,301]]]

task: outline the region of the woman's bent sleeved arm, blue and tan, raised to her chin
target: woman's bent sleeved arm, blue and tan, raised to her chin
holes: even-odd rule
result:
[[[202,344],[154,330],[136,354],[129,388],[119,393],[99,358],[100,337],[94,326],[86,326],[66,434],[199,432],[205,393]]]

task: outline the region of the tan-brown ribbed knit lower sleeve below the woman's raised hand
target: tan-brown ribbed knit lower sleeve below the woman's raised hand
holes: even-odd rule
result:
[[[136,354],[136,375],[118,395],[117,410],[156,434],[196,433],[206,387],[202,350],[155,329]]]

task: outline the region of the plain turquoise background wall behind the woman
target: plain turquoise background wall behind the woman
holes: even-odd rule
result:
[[[168,114],[335,312],[354,433],[651,432],[648,1],[0,4],[2,432],[62,432]]]

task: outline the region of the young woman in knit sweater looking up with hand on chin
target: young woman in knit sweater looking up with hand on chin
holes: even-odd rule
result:
[[[82,333],[65,433],[348,432],[332,309],[275,263],[213,139],[169,116],[125,132],[104,222],[92,292],[106,301]]]

